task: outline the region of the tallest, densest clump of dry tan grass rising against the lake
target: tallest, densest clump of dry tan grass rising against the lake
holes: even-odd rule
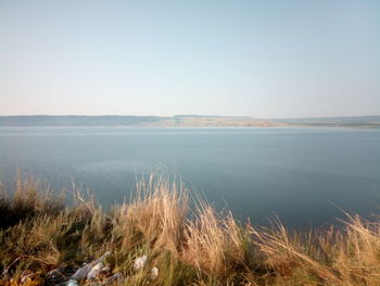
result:
[[[137,185],[137,196],[129,203],[114,209],[113,220],[123,228],[124,244],[140,234],[155,249],[178,254],[182,227],[188,210],[188,196],[183,185],[177,186],[164,177]]]

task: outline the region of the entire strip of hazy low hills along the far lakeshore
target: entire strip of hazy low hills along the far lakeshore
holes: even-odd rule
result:
[[[0,126],[163,126],[163,127],[265,127],[352,126],[380,127],[380,115],[259,120],[249,116],[175,115],[15,115],[0,116]]]

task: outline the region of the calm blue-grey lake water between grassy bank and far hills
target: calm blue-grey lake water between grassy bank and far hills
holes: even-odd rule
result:
[[[354,128],[0,127],[0,177],[23,173],[91,188],[102,203],[129,197],[136,177],[168,173],[216,208],[292,227],[369,216],[380,202],[380,130]]]

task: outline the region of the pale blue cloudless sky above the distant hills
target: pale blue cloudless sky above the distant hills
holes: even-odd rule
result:
[[[380,115],[380,1],[0,0],[0,115]]]

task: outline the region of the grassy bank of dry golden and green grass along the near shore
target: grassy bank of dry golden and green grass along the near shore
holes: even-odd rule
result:
[[[189,215],[188,195],[151,177],[130,203],[103,211],[91,196],[75,191],[67,207],[63,195],[20,179],[13,196],[0,198],[0,285],[54,285],[52,270],[65,269],[65,276],[106,251],[107,273],[79,284],[380,285],[379,222],[349,216],[340,229],[258,229],[204,202]],[[115,273],[123,278],[106,281]]]

